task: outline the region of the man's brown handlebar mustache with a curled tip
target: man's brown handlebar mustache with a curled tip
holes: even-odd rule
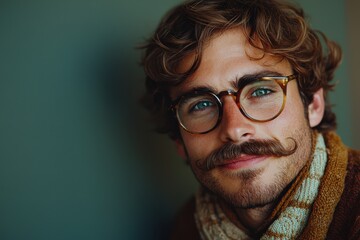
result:
[[[284,147],[278,139],[269,140],[249,140],[242,144],[226,143],[219,149],[211,152],[206,158],[196,160],[196,166],[209,171],[219,165],[224,165],[227,161],[246,155],[267,155],[274,157],[284,157],[295,153],[298,145],[293,138],[288,138],[294,144],[290,148]]]

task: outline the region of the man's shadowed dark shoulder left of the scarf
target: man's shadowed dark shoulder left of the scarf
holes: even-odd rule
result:
[[[191,197],[180,209],[171,232],[171,240],[201,239],[196,227],[195,218],[195,197]]]

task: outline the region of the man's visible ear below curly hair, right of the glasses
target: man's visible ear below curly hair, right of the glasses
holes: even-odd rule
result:
[[[324,91],[322,88],[314,93],[313,101],[308,106],[310,127],[316,127],[321,122],[325,111]]]

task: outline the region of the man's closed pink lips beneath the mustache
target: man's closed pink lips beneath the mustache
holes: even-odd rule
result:
[[[256,164],[264,161],[266,158],[267,156],[264,155],[242,155],[235,159],[226,160],[218,164],[217,167],[228,170],[251,168]]]

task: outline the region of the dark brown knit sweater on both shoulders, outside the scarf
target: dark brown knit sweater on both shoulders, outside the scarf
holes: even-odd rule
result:
[[[334,133],[326,134],[327,146],[335,152],[343,150],[344,146]],[[335,141],[332,141],[335,139]],[[332,144],[328,144],[329,141]],[[340,201],[336,206],[326,239],[328,240],[360,240],[360,151],[347,149],[348,165],[345,178],[345,188]],[[336,173],[333,173],[336,174]],[[174,229],[172,240],[180,239],[201,239],[196,228],[195,219],[195,198],[181,209]],[[304,238],[302,238],[304,239]]]

